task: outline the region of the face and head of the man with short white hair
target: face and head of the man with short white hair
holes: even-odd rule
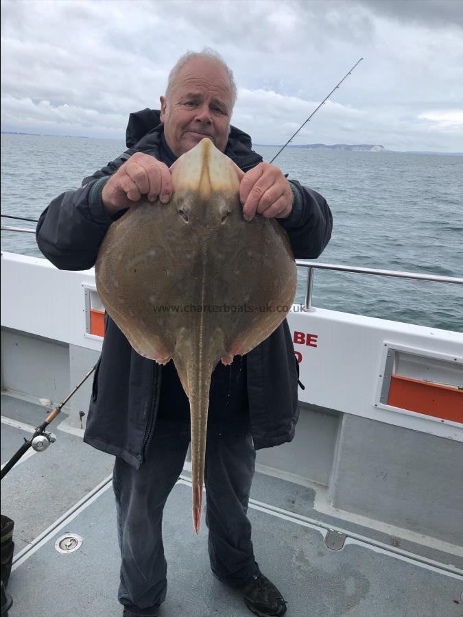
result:
[[[195,58],[182,66],[169,100],[161,97],[161,122],[171,151],[181,156],[209,137],[224,152],[232,101],[230,79],[215,60]]]

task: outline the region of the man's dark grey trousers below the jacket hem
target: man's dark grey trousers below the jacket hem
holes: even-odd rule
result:
[[[119,602],[139,615],[156,614],[167,591],[163,508],[182,472],[190,428],[156,423],[146,462],[137,471],[116,457],[113,487],[121,549]],[[206,525],[213,574],[237,586],[259,572],[246,516],[255,451],[247,427],[209,427],[206,446]]]

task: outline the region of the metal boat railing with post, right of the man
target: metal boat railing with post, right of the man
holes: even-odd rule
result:
[[[390,276],[392,278],[407,278],[410,280],[427,280],[432,282],[452,283],[453,285],[463,285],[463,278],[456,276],[438,276],[436,274],[420,274],[418,272],[403,272],[400,270],[381,270],[378,268],[363,268],[357,266],[346,266],[335,263],[318,263],[307,259],[296,259],[296,265],[307,269],[307,282],[305,287],[305,304],[303,311],[312,309],[313,279],[316,270],[331,270],[337,272],[348,272],[350,274],[373,274],[375,276]]]

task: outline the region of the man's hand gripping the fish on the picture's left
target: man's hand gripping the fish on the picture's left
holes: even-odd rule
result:
[[[102,191],[102,202],[108,214],[130,208],[145,195],[150,202],[158,197],[167,204],[172,195],[172,178],[169,167],[163,162],[141,152],[135,152],[110,177]]]

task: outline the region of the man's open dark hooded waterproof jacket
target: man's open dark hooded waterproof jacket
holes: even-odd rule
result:
[[[160,158],[163,125],[159,112],[130,115],[128,150],[86,178],[80,189],[54,199],[40,216],[36,238],[43,254],[60,269],[95,265],[99,245],[112,220],[101,200],[102,186],[134,152]],[[250,137],[232,127],[225,154],[246,171],[262,158],[251,149]],[[296,258],[316,258],[331,237],[331,212],[324,198],[294,180],[293,213],[279,222],[287,231]],[[93,391],[84,441],[122,457],[139,468],[156,421],[162,367],[137,354],[115,322],[106,315],[102,355]],[[250,426],[254,447],[277,446],[294,437],[298,420],[297,362],[286,320],[246,356]]]

